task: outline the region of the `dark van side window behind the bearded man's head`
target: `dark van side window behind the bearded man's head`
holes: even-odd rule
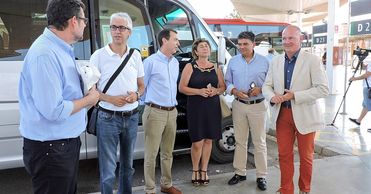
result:
[[[88,0],[82,0],[88,6]],[[44,32],[47,0],[2,0],[0,6],[0,60],[24,60],[32,43]],[[84,11],[88,17],[88,9]],[[75,43],[77,59],[90,58],[89,24],[84,39]],[[85,49],[84,49],[85,47]]]

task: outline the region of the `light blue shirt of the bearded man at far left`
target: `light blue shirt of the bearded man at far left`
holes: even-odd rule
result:
[[[72,100],[83,97],[73,48],[47,28],[30,47],[18,91],[23,137],[50,141],[85,130],[86,109],[70,115]]]

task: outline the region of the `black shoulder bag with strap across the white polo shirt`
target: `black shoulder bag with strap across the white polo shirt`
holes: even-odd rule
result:
[[[117,78],[117,76],[119,75],[119,73],[121,73],[122,69],[124,69],[126,63],[128,63],[131,55],[133,54],[134,52],[134,49],[130,49],[129,50],[129,54],[125,57],[124,61],[121,63],[121,65],[117,68],[117,70],[115,71],[115,73],[112,75],[111,78],[109,78],[106,86],[104,87],[102,93],[106,93],[109,86],[111,86],[112,82],[114,82],[114,80]],[[101,101],[98,101],[95,106],[92,106],[92,108],[90,108],[87,112],[87,115],[88,115],[88,126],[86,126],[86,131],[88,132],[88,134],[92,134],[92,135],[95,135],[96,136],[96,121],[98,119],[98,108],[99,108],[99,102]]]

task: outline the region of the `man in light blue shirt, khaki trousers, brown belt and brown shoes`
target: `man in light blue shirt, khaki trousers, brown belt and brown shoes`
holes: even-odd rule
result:
[[[171,165],[177,129],[178,104],[177,80],[179,62],[173,56],[179,44],[177,31],[165,29],[158,33],[161,50],[143,61],[145,93],[141,104],[146,105],[142,115],[144,149],[144,191],[154,194],[155,165],[158,149],[161,146],[161,192],[182,194],[173,187]]]

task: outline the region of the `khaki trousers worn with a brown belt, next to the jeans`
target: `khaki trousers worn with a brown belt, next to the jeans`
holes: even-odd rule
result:
[[[171,180],[171,165],[173,164],[173,149],[177,129],[178,111],[164,111],[145,106],[142,116],[144,128],[144,178],[146,193],[155,193],[155,165],[158,148],[161,146],[161,186],[173,186]]]

